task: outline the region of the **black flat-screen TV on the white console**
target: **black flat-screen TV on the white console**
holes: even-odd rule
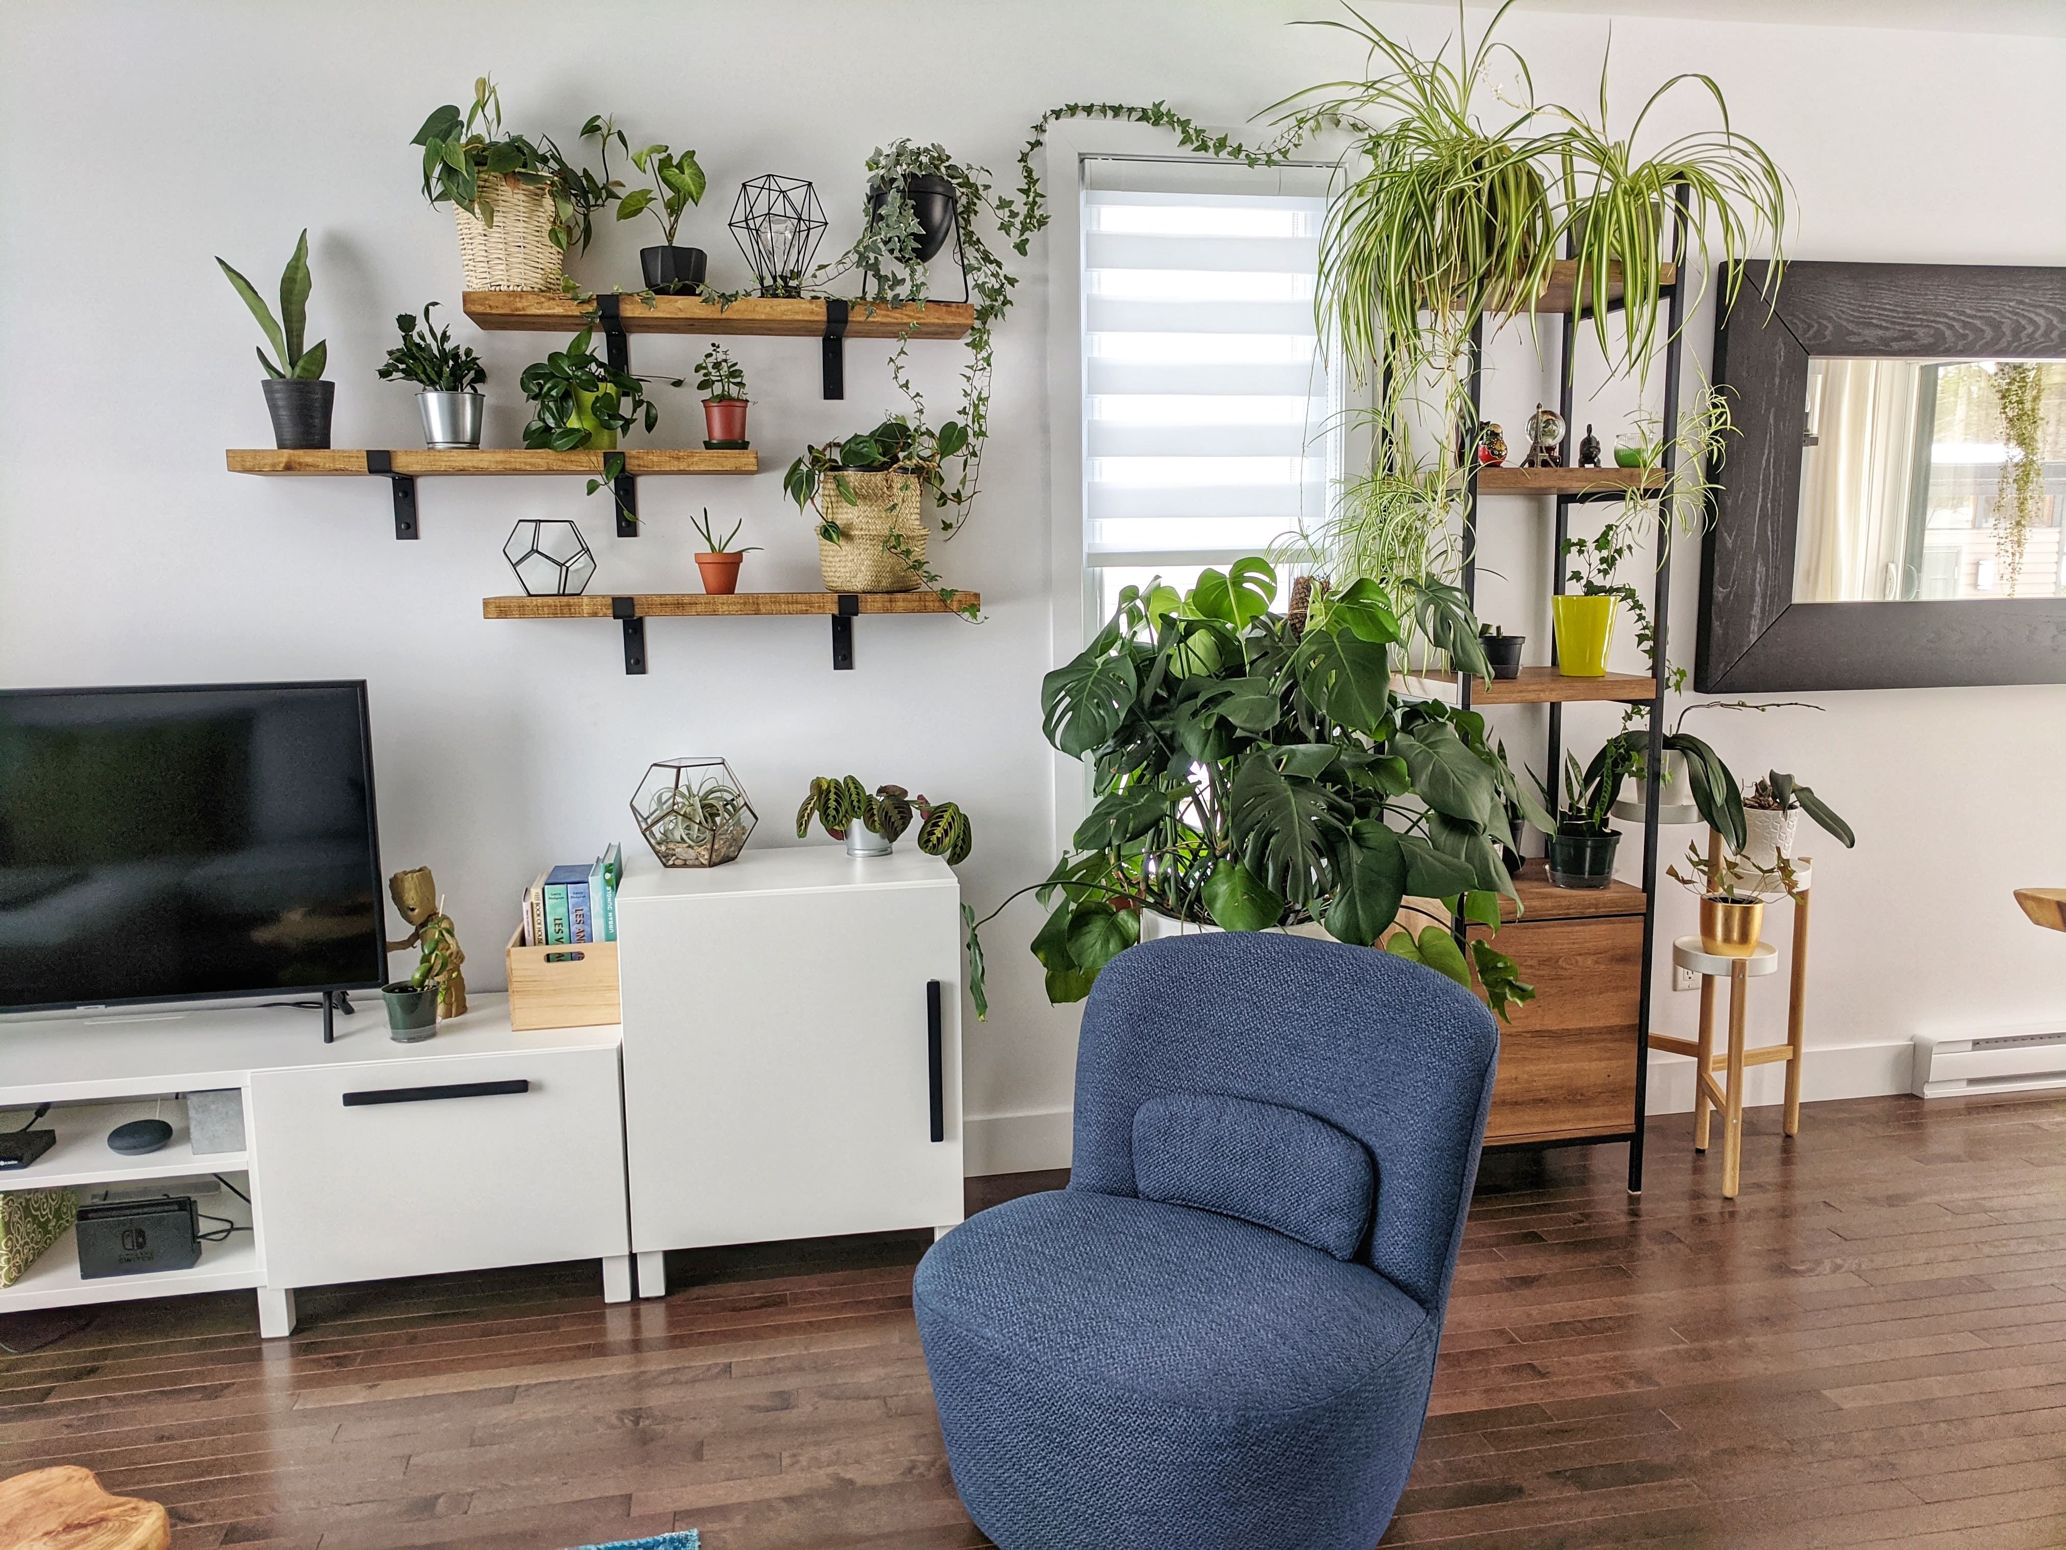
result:
[[[0,690],[0,1011],[386,980],[364,682]]]

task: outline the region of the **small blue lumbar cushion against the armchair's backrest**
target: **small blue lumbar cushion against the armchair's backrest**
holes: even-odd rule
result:
[[[1254,1221],[1335,1259],[1370,1230],[1364,1143],[1304,1110],[1221,1093],[1163,1093],[1134,1114],[1134,1190]]]

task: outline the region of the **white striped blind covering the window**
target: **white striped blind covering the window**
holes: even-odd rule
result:
[[[1324,169],[1083,159],[1083,513],[1120,587],[1266,552],[1341,473],[1314,329]]]

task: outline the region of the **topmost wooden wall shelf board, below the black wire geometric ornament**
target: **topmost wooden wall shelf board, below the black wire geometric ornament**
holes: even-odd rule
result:
[[[475,327],[527,333],[581,333],[595,322],[595,304],[558,291],[467,291],[463,302]],[[731,306],[700,296],[626,296],[618,304],[624,333],[777,335],[824,337],[824,302],[810,298],[746,296]],[[849,339],[965,339],[975,327],[971,302],[847,302]]]

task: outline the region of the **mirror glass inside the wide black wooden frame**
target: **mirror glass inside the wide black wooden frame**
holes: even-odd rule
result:
[[[2066,597],[2066,362],[1812,358],[1793,601]]]

